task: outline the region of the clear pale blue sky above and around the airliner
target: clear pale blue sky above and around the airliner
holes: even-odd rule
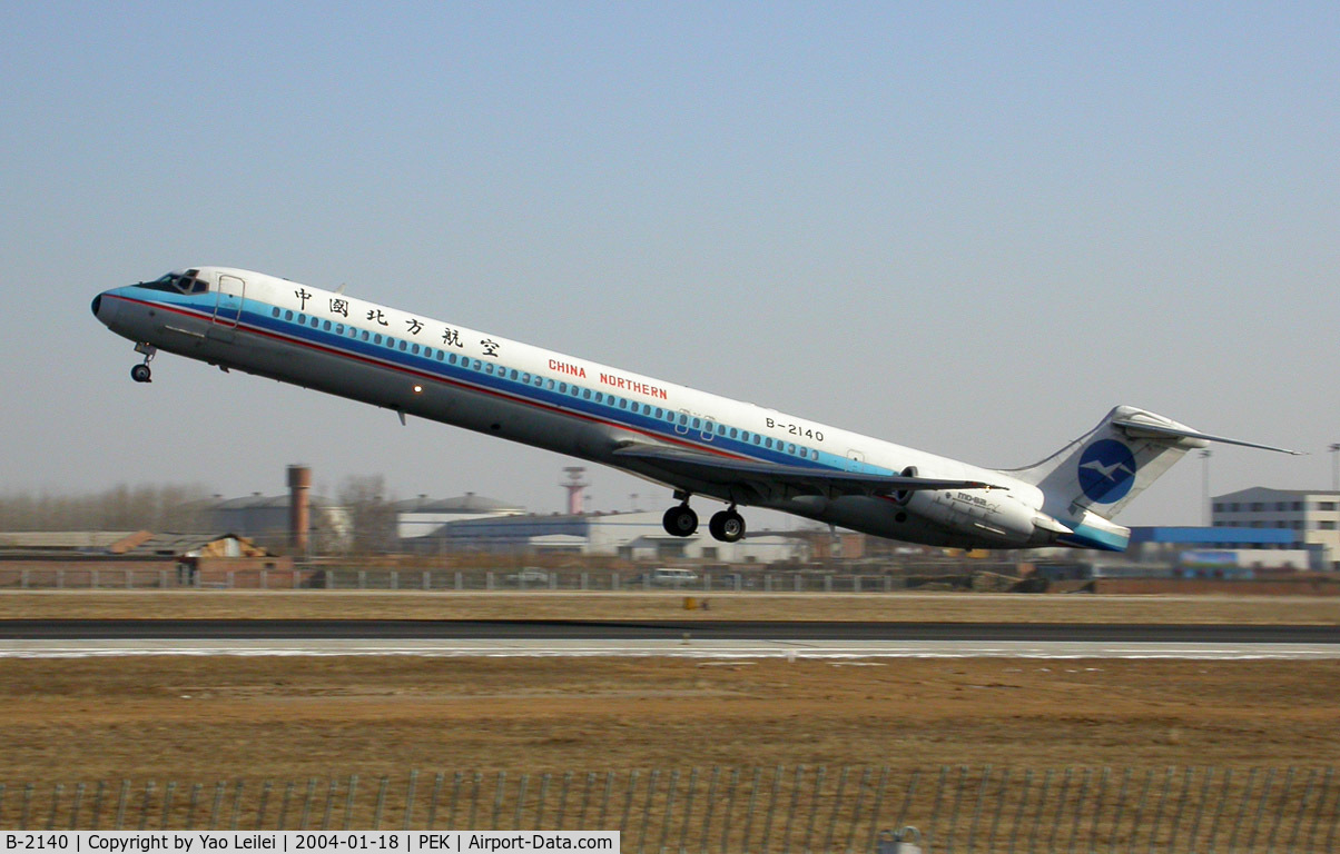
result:
[[[570,460],[130,343],[225,264],[992,464],[1114,404],[1328,487],[1340,5],[0,5],[0,490],[561,506]],[[592,471],[594,503],[669,505]],[[1120,517],[1199,521],[1201,460]]]

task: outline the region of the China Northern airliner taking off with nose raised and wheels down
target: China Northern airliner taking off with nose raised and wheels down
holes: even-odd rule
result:
[[[96,296],[149,383],[159,351],[602,463],[667,487],[666,533],[690,537],[690,498],[726,505],[718,541],[746,533],[738,507],[781,510],[904,542],[963,549],[1120,551],[1112,522],[1203,434],[1118,406],[1024,468],[985,468],[285,278],[196,266]]]

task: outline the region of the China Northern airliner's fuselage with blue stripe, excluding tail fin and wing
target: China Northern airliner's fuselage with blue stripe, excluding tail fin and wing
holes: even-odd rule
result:
[[[194,278],[208,290],[131,285],[99,296],[94,311],[137,343],[614,466],[677,493],[930,545],[1056,539],[1033,526],[1041,491],[1006,473],[261,273],[200,268]],[[801,494],[766,478],[726,489],[615,455],[630,442],[1000,489],[902,499]]]

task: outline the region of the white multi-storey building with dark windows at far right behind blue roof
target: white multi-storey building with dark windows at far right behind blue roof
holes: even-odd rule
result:
[[[1214,527],[1272,527],[1292,533],[1289,547],[1320,551],[1320,564],[1340,562],[1340,493],[1332,490],[1273,490],[1264,486],[1215,495],[1210,505]]]

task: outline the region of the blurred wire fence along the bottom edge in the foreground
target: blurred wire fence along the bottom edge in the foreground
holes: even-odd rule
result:
[[[618,830],[627,853],[1333,851],[1333,767],[673,768],[0,786],[17,830]]]

